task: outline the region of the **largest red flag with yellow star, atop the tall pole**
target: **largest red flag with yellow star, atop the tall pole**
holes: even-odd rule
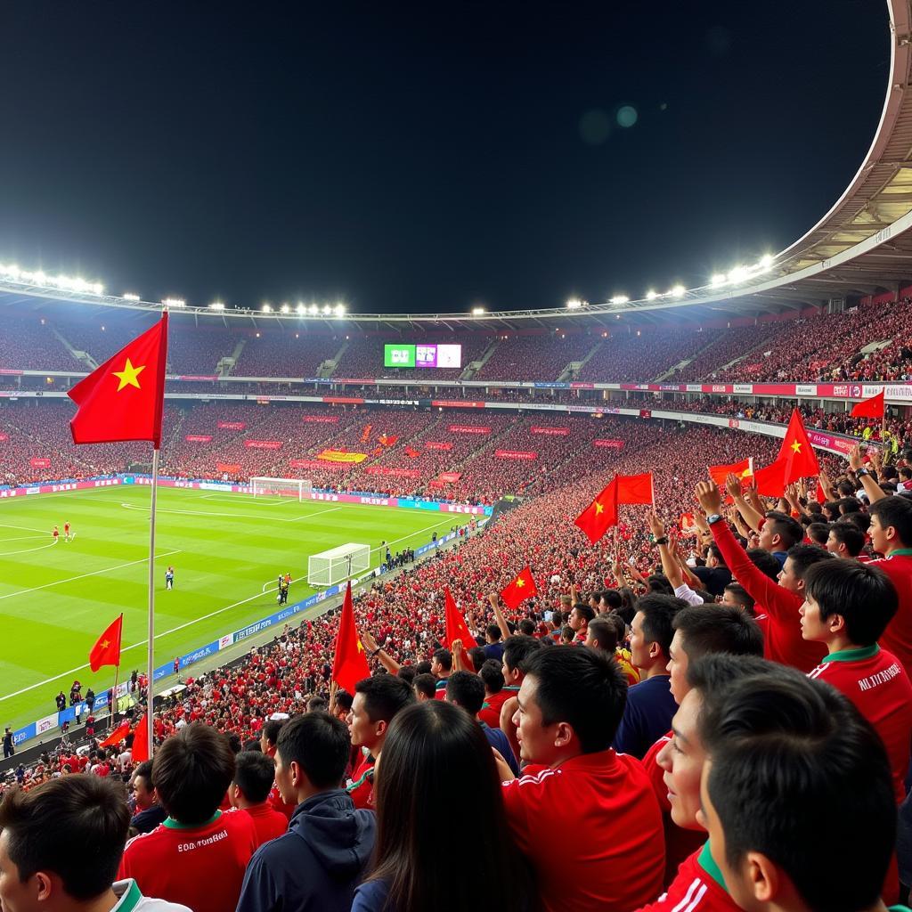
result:
[[[168,356],[168,314],[67,393],[78,410],[69,422],[74,443],[150,440],[161,445]]]

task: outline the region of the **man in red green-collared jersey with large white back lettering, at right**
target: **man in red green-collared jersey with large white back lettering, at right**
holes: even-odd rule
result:
[[[877,645],[899,599],[890,578],[874,564],[838,561],[811,567],[804,576],[802,633],[824,643],[824,661],[808,674],[855,703],[886,747],[896,802],[906,798],[912,683],[891,652]]]

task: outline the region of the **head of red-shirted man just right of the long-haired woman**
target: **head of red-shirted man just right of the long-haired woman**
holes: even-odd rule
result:
[[[597,649],[542,649],[529,659],[513,716],[524,761],[554,766],[614,740],[627,682]]]

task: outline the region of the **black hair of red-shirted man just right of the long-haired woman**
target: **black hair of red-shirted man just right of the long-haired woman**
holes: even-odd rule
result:
[[[543,649],[529,659],[542,723],[567,722],[584,753],[606,751],[627,705],[627,681],[600,649]]]

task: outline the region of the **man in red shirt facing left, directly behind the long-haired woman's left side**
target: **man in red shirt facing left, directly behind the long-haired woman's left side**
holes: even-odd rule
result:
[[[374,764],[383,750],[389,723],[399,710],[417,702],[415,691],[394,675],[364,678],[355,685],[355,699],[348,713],[352,747],[361,751],[361,762],[346,789],[355,807],[371,807]]]

